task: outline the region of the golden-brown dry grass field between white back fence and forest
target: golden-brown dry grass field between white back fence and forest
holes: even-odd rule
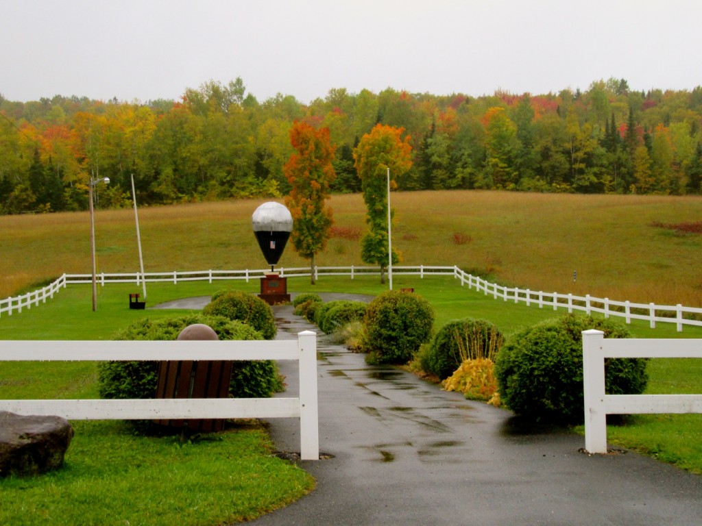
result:
[[[251,231],[260,203],[141,209],[145,270],[266,268]],[[700,220],[700,197],[432,191],[393,194],[392,205],[404,264],[456,264],[531,290],[702,305],[702,237],[652,226]],[[331,207],[340,231],[365,231],[362,196],[333,196]],[[98,270],[136,272],[133,210],[98,211],[95,225]],[[87,213],[4,216],[0,231],[0,297],[90,271]],[[457,233],[468,241],[456,243]],[[332,238],[317,262],[361,265],[359,241]],[[291,246],[279,263],[307,264]]]

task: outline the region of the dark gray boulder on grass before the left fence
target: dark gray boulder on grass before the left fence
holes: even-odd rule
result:
[[[72,438],[73,428],[64,418],[0,411],[0,477],[60,468]]]

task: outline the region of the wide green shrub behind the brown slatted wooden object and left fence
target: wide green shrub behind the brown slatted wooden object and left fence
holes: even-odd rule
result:
[[[260,332],[241,321],[223,316],[192,314],[157,321],[143,319],[132,323],[114,336],[118,340],[175,340],[188,325],[204,323],[219,339],[263,339]],[[98,389],[102,398],[154,398],[158,381],[157,361],[110,361],[98,363]],[[230,382],[234,398],[268,398],[282,391],[283,384],[275,362],[271,360],[237,360]]]

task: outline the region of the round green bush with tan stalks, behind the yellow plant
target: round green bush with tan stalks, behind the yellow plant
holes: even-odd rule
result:
[[[438,330],[428,349],[418,356],[425,372],[446,379],[463,360],[495,359],[504,337],[496,326],[485,320],[451,320]]]

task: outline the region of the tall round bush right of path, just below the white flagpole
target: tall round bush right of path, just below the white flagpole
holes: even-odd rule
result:
[[[368,363],[407,363],[432,335],[435,313],[431,304],[413,292],[386,290],[369,303],[364,316]]]

